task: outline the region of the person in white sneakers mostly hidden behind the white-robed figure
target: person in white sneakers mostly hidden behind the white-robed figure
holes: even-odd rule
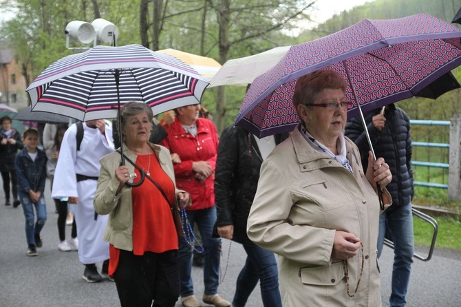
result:
[[[53,145],[48,148],[45,153],[48,158],[47,162],[47,176],[50,178],[51,187],[53,187],[54,180],[54,169],[56,169],[56,164],[58,162],[59,150],[61,149],[61,142],[63,142],[63,136],[67,130],[66,123],[60,123],[57,127],[56,134],[54,135]],[[56,204],[56,210],[58,211],[58,235],[59,235],[59,251],[71,251],[72,247],[78,249],[78,239],[77,239],[77,226],[74,220],[72,224],[71,240],[70,244],[65,240],[65,225],[67,218],[67,200],[54,198],[54,203]]]

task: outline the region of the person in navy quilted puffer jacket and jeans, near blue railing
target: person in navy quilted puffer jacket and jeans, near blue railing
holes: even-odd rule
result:
[[[380,215],[378,257],[383,250],[386,235],[394,242],[392,294],[389,303],[392,307],[405,306],[414,253],[410,121],[403,109],[394,104],[384,109],[374,109],[364,116],[374,152],[377,157],[385,159],[392,172],[392,182],[386,188],[392,195],[393,204]],[[347,121],[345,135],[356,143],[362,157],[368,156],[369,145],[358,116]],[[367,168],[366,159],[362,160],[362,165],[364,169]]]

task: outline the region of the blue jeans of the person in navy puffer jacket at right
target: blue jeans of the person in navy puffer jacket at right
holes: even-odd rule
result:
[[[390,209],[390,210],[389,210]],[[389,297],[391,307],[405,306],[413,263],[414,238],[413,214],[411,204],[402,207],[390,207],[379,218],[378,257],[383,251],[386,231],[394,242],[394,268],[392,269],[392,294]]]

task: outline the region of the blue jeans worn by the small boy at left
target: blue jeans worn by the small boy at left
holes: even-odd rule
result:
[[[43,193],[40,195],[39,202],[32,202],[28,193],[19,192],[19,201],[22,204],[25,217],[25,238],[28,245],[35,244],[34,235],[39,235],[46,221],[46,204]],[[37,215],[35,222],[34,207]],[[35,223],[35,226],[34,226]]]

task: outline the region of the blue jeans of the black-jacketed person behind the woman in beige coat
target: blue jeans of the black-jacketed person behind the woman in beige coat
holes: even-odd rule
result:
[[[245,246],[246,262],[237,277],[233,307],[245,306],[248,297],[261,281],[261,298],[263,306],[281,307],[279,290],[279,272],[275,255],[257,246]]]

